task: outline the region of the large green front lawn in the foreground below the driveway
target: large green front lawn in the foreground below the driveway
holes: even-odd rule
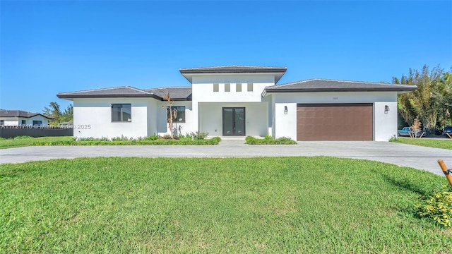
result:
[[[450,253],[444,177],[332,157],[0,165],[0,253]]]

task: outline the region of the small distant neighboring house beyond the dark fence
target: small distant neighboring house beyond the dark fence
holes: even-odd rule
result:
[[[0,110],[0,126],[48,126],[52,117],[22,110]]]

